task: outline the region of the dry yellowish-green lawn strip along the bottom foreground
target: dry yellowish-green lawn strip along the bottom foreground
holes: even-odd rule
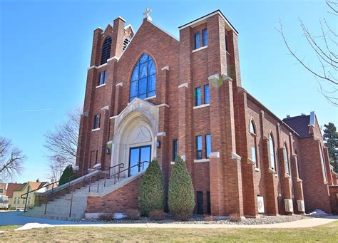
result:
[[[0,228],[1,230],[1,228]],[[0,234],[0,242],[338,242],[338,221],[304,229],[54,227]]]

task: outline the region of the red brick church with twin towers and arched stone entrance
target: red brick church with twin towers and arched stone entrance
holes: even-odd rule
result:
[[[157,158],[168,190],[176,155],[197,214],[337,212],[314,112],[281,120],[242,87],[238,32],[221,11],[178,29],[179,39],[146,11],[137,32],[121,17],[93,32],[76,163],[130,170],[119,187],[88,195],[86,212],[137,208],[145,160]]]

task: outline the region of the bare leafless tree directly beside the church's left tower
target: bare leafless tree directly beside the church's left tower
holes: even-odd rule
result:
[[[48,150],[48,171],[53,180],[58,180],[67,165],[75,165],[80,129],[81,108],[68,113],[65,123],[56,125],[45,134],[45,148]]]

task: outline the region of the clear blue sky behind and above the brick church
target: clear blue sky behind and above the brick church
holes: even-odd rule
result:
[[[337,108],[314,76],[288,54],[280,33],[315,67],[299,27],[319,33],[324,1],[16,1],[0,0],[0,135],[27,155],[18,182],[47,179],[43,134],[82,105],[93,30],[118,16],[138,29],[146,7],[153,22],[178,37],[178,26],[220,9],[240,32],[242,85],[280,118],[314,110],[320,125],[338,124]]]

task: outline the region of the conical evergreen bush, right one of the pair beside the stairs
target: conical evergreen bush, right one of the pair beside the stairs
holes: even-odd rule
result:
[[[187,220],[195,207],[193,182],[185,166],[185,162],[176,157],[171,170],[168,191],[168,207],[175,219]]]

